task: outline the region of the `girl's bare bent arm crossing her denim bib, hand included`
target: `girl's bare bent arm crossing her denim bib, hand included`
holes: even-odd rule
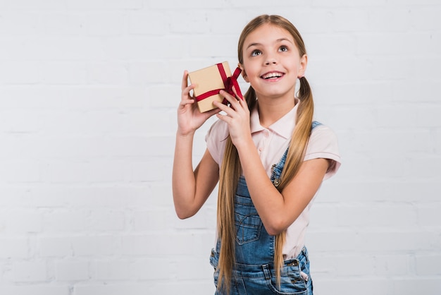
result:
[[[232,108],[216,104],[227,115],[218,118],[228,124],[232,143],[239,153],[247,186],[263,226],[275,235],[287,229],[299,217],[321,185],[329,163],[327,159],[303,162],[294,179],[280,193],[273,185],[261,163],[249,131],[249,110],[246,102],[225,92]]]

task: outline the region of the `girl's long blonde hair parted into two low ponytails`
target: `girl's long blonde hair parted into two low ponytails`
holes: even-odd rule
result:
[[[237,44],[237,55],[240,64],[243,64],[242,50],[247,36],[259,28],[261,25],[271,24],[290,32],[294,37],[294,42],[302,57],[306,54],[304,42],[299,31],[286,18],[281,16],[262,15],[251,20],[242,30],[239,42]],[[299,167],[304,160],[306,145],[311,136],[311,124],[313,119],[313,99],[311,88],[306,78],[302,77],[298,92],[299,107],[297,109],[296,126],[292,133],[287,159],[281,175],[281,182],[278,191],[289,183],[299,171]],[[256,92],[250,86],[244,95],[247,100],[250,111],[256,106]],[[292,98],[294,100],[294,97]],[[230,138],[227,139],[225,145],[225,154],[223,164],[219,176],[219,193],[218,193],[218,235],[221,239],[221,250],[219,253],[219,278],[218,289],[225,288],[230,290],[230,281],[232,269],[235,264],[235,216],[234,216],[234,198],[238,179],[240,177],[241,167],[240,160],[235,145],[232,144]],[[286,231],[275,237],[275,256],[274,265],[278,284],[280,284],[280,270],[283,265],[282,248],[285,243]]]

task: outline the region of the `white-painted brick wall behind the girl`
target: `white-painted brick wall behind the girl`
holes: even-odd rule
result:
[[[340,138],[316,294],[441,294],[441,1],[0,0],[1,295],[213,294],[216,196],[175,217],[175,109],[260,13],[302,32]]]

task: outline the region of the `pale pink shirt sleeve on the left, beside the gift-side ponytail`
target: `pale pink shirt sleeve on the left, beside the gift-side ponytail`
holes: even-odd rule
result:
[[[205,136],[206,148],[219,166],[222,163],[226,138],[228,138],[228,125],[221,120],[214,122]]]

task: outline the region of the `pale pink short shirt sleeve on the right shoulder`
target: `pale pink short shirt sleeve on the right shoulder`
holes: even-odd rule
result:
[[[334,131],[324,125],[313,128],[304,160],[319,158],[331,160],[330,167],[328,171],[326,171],[324,179],[329,179],[337,173],[341,165],[337,136]]]

